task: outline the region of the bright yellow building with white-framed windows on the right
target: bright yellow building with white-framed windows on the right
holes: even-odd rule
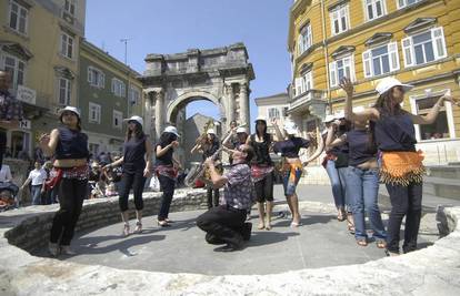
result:
[[[414,85],[403,108],[424,114],[450,91],[460,96],[460,1],[297,0],[288,48],[292,82],[288,114],[303,132],[322,129],[343,110],[343,76],[354,86],[353,106],[370,106],[376,85],[393,76]],[[446,103],[436,123],[416,125],[426,163],[460,160],[460,109]]]

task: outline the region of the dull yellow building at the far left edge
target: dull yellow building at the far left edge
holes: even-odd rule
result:
[[[0,69],[11,73],[26,112],[21,127],[7,131],[7,147],[32,156],[37,136],[57,125],[57,110],[78,104],[86,0],[0,0]]]

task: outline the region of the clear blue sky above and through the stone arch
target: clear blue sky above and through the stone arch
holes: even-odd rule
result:
[[[177,53],[187,49],[211,49],[243,42],[256,72],[251,82],[251,119],[257,118],[253,99],[286,91],[290,80],[287,51],[291,0],[89,0],[86,38],[140,73],[148,53]],[[204,111],[206,110],[206,111]],[[198,101],[187,106],[218,116],[216,105]]]

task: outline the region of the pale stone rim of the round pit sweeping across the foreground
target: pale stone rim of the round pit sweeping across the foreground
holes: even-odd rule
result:
[[[158,198],[153,195],[152,200]],[[187,193],[182,200],[176,198],[176,208],[188,208],[194,202],[203,204],[192,196]],[[114,200],[91,201],[86,211],[102,211],[112,203]],[[318,205],[318,211],[321,208]],[[360,265],[244,276],[80,265],[34,257],[8,243],[4,236],[19,233],[18,228],[33,232],[36,216],[50,212],[52,208],[40,212],[31,207],[0,214],[0,295],[460,295],[460,207],[439,208],[439,223],[449,222],[443,225],[449,235],[407,255]],[[82,223],[80,227],[84,228],[87,222]],[[88,223],[97,225],[91,224],[96,221]]]

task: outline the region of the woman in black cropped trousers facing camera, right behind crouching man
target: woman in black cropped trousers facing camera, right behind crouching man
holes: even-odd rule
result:
[[[271,229],[271,213],[273,210],[273,162],[270,157],[273,139],[267,133],[267,120],[263,116],[256,119],[256,133],[248,137],[254,151],[251,162],[251,175],[256,187],[256,201],[259,210],[259,229]],[[266,221],[267,217],[267,221]]]

